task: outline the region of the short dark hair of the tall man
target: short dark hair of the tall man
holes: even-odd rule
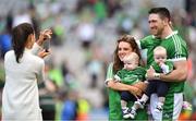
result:
[[[161,19],[168,19],[169,21],[171,21],[171,15],[170,15],[170,11],[167,8],[152,8],[149,10],[148,12],[149,14],[159,14]]]

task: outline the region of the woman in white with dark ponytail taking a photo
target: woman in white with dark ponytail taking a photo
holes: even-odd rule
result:
[[[49,52],[40,45],[50,38],[51,31],[44,31],[35,44],[35,32],[30,24],[23,23],[12,31],[12,46],[4,56],[5,85],[2,94],[2,120],[42,120],[39,108],[37,82],[44,81],[45,62]]]

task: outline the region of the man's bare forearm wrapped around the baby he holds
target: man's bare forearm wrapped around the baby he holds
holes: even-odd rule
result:
[[[187,77],[187,61],[181,60],[174,62],[174,70],[169,74],[160,74],[160,80],[163,80],[166,82],[181,82],[185,81]]]

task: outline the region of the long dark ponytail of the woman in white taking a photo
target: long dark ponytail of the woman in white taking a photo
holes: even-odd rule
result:
[[[25,44],[30,34],[34,34],[34,28],[29,23],[20,24],[12,29],[12,46],[17,63],[20,63],[20,58],[23,57]]]

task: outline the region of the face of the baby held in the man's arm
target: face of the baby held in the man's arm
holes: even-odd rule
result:
[[[154,59],[156,61],[156,63],[164,63],[167,60],[167,55],[166,52],[159,51],[159,52],[155,52],[154,53]]]

